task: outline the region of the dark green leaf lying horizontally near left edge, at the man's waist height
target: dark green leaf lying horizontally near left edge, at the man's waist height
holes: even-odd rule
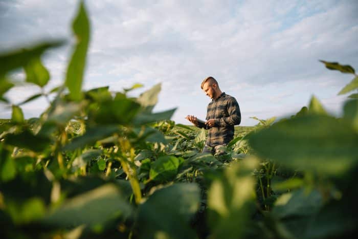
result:
[[[7,134],[5,143],[36,152],[42,152],[49,148],[51,140],[48,137],[33,135],[30,131],[24,131],[19,134]]]

